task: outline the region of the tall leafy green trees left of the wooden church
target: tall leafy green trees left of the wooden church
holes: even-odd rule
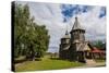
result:
[[[39,26],[34,22],[27,4],[14,7],[14,57],[43,57],[50,38],[46,26]]]

